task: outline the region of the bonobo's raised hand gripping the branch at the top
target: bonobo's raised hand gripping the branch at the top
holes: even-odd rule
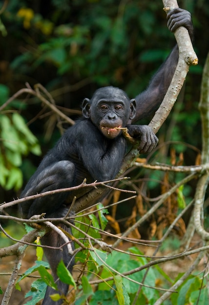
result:
[[[167,13],[167,26],[170,32],[175,32],[180,26],[186,27],[188,34],[193,39],[193,25],[191,14],[182,8],[174,8]]]

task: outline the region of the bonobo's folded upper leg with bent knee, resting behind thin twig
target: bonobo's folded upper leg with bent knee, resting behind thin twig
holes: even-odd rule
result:
[[[44,160],[42,165],[44,165]],[[38,168],[21,193],[21,197],[71,187],[74,176],[75,165],[66,160],[49,165],[43,170],[42,167]],[[66,197],[67,192],[61,192],[25,201],[21,204],[22,214],[27,218],[41,213],[46,213],[48,216],[49,213],[60,208]]]

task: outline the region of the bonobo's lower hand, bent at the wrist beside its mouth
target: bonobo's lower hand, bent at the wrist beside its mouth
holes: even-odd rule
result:
[[[127,125],[130,136],[140,140],[138,151],[140,153],[151,152],[158,143],[157,136],[147,125]]]

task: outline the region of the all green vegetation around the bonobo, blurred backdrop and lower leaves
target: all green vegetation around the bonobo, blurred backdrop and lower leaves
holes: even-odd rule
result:
[[[178,4],[192,14],[199,64],[190,68],[186,85],[158,133],[158,150],[150,154],[148,161],[198,165],[201,164],[202,148],[198,102],[203,65],[209,50],[209,3],[207,0],[182,0]],[[0,1],[0,203],[13,201],[20,195],[22,186],[40,163],[42,155],[69,126],[37,96],[24,93],[14,97],[6,107],[4,103],[20,89],[34,88],[35,84],[41,83],[47,90],[42,92],[43,96],[64,114],[76,119],[83,98],[90,97],[98,87],[118,86],[130,98],[134,97],[146,88],[150,77],[175,43],[173,34],[167,30],[162,6],[162,1],[146,0]],[[145,118],[142,123],[147,124],[149,120]],[[128,203],[121,202],[117,210],[110,208],[110,215],[96,212],[75,220],[77,229],[73,234],[85,247],[76,256],[75,270],[80,272],[79,279],[73,279],[62,263],[59,266],[62,280],[72,287],[75,304],[87,304],[88,300],[89,305],[107,305],[110,302],[113,305],[152,305],[164,294],[160,289],[169,290],[181,277],[183,280],[176,288],[177,293],[172,293],[163,304],[208,304],[207,255],[205,265],[195,268],[184,278],[190,267],[187,258],[178,260],[181,271],[165,270],[160,263],[149,267],[152,258],[146,253],[147,248],[136,242],[140,238],[152,240],[155,249],[156,240],[161,241],[169,232],[162,245],[157,244],[158,256],[180,252],[184,236],[188,236],[186,229],[192,219],[191,209],[185,210],[185,215],[172,229],[168,228],[193,199],[195,179],[182,184],[146,219],[146,223],[133,232],[130,236],[134,238],[133,245],[124,241],[119,247],[124,251],[119,252],[111,247],[104,249],[99,244],[101,239],[113,244],[115,239],[112,235],[107,237],[103,230],[120,236],[127,226],[131,227],[155,204],[148,198],[159,198],[185,177],[182,172],[165,173],[138,168],[128,175],[131,182],[124,182],[119,187],[137,190],[137,198]],[[117,191],[112,197],[114,202],[124,198]],[[112,197],[108,198],[107,204],[112,202]],[[24,234],[20,222],[17,227],[17,222],[8,220],[4,212],[18,215],[19,210],[16,205],[2,212],[5,218],[1,221],[1,248],[14,244],[3,229],[16,239],[21,239]],[[204,212],[207,229],[207,200]],[[200,247],[198,243],[202,240],[197,239],[194,248]],[[185,267],[185,260],[188,267]],[[196,257],[192,262],[195,260]],[[148,269],[143,269],[143,266]],[[140,267],[142,269],[136,273],[122,275]],[[37,248],[37,261],[16,283],[16,289],[20,290],[26,276],[39,272],[40,278],[34,281],[31,291],[26,294],[32,300],[26,304],[35,305],[44,295],[46,285],[55,288],[54,300],[59,298],[56,283],[47,269],[48,265],[42,261],[42,250]],[[109,281],[104,281],[109,277]],[[5,292],[1,289],[0,294]]]

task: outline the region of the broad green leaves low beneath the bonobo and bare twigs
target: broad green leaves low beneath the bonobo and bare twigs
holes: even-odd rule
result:
[[[101,209],[101,205],[100,205]],[[92,214],[90,215],[92,218]],[[80,216],[77,222],[79,228],[79,237],[81,222],[84,232],[89,230],[90,222],[88,217]],[[106,221],[101,223],[105,226]],[[101,239],[98,233],[99,227],[90,228],[91,238]],[[76,235],[76,229],[74,229]],[[150,259],[146,258],[144,254],[137,248],[131,247],[127,252],[119,252],[116,250],[108,253],[91,246],[85,240],[85,247],[87,250],[82,250],[77,254],[76,268],[81,271],[78,279],[73,279],[72,275],[61,262],[58,266],[57,274],[63,283],[71,285],[71,289],[75,289],[74,298],[75,305],[84,305],[88,300],[89,305],[97,305],[102,302],[104,305],[131,305],[135,304],[149,304],[153,305],[159,299],[161,293],[159,287],[167,287],[167,283],[174,284],[184,273],[180,273],[175,281],[173,281],[158,265],[137,271],[139,267],[143,267],[149,263]],[[82,265],[84,264],[84,269]],[[36,261],[35,265],[29,268],[18,280],[16,288],[20,289],[19,282],[30,275],[34,271],[39,271],[41,279],[36,280],[32,286],[31,291],[25,297],[31,296],[31,301],[26,304],[35,305],[45,293],[46,285],[55,289],[55,293],[51,295],[54,301],[60,299],[68,302],[63,295],[57,291],[57,286],[54,283],[53,277],[47,271],[48,264],[43,261]],[[82,271],[83,270],[83,271]],[[130,272],[129,275],[127,272]],[[136,272],[137,271],[137,272]],[[109,279],[110,278],[110,279]],[[99,284],[92,287],[91,281],[102,280]],[[204,280],[205,281],[205,280]],[[140,286],[141,290],[139,292]],[[207,286],[203,286],[202,278],[200,275],[190,275],[182,285],[177,289],[178,293],[173,293],[170,298],[172,305],[185,305],[188,303],[193,304],[197,298],[200,298],[201,304],[208,304]],[[71,299],[72,300],[72,299]],[[135,301],[134,301],[135,300]]]

